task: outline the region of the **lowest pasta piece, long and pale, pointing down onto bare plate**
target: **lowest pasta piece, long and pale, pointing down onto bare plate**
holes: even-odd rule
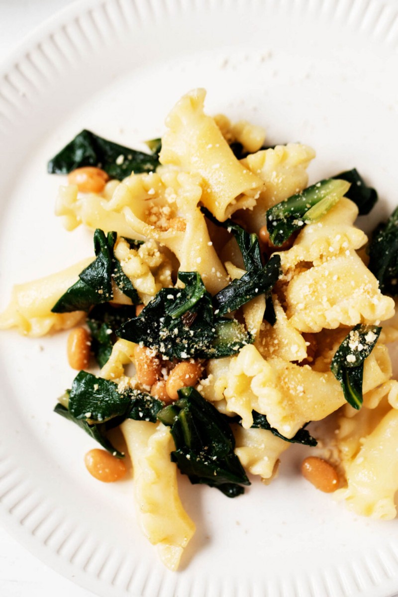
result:
[[[177,570],[184,547],[195,533],[178,497],[177,465],[170,460],[174,442],[168,427],[128,419],[121,425],[134,467],[138,521],[163,564]]]

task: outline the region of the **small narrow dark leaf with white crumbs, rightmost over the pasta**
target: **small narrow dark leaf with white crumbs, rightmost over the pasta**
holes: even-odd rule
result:
[[[363,362],[374,349],[380,332],[381,327],[377,325],[356,325],[344,338],[332,359],[331,370],[341,383],[344,398],[357,410],[363,402]]]

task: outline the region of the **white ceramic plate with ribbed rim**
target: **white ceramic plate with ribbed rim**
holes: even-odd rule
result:
[[[398,6],[377,0],[87,0],[36,31],[0,71],[2,306],[11,285],[92,253],[92,235],[53,216],[45,165],[82,128],[137,146],[175,100],[301,140],[311,179],[356,166],[396,205]],[[1,519],[60,573],[106,597],[387,597],[398,590],[398,522],[358,518],[298,474],[228,500],[181,479],[198,526],[181,571],[141,536],[132,482],[100,485],[92,447],[52,413],[73,372],[65,336],[0,335]]]

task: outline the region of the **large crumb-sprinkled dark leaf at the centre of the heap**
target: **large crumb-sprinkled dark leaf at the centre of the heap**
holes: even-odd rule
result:
[[[185,288],[162,288],[118,336],[179,359],[233,355],[253,341],[238,322],[214,317],[211,295],[197,272],[179,272],[178,278]]]

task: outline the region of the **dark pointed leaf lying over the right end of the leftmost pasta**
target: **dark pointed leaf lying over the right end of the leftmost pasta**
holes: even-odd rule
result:
[[[55,303],[53,313],[88,311],[95,304],[107,303],[113,298],[112,279],[133,303],[140,302],[137,291],[113,254],[115,242],[116,232],[105,235],[103,230],[95,230],[95,260],[79,273],[79,280]],[[139,241],[128,239],[128,242]]]

